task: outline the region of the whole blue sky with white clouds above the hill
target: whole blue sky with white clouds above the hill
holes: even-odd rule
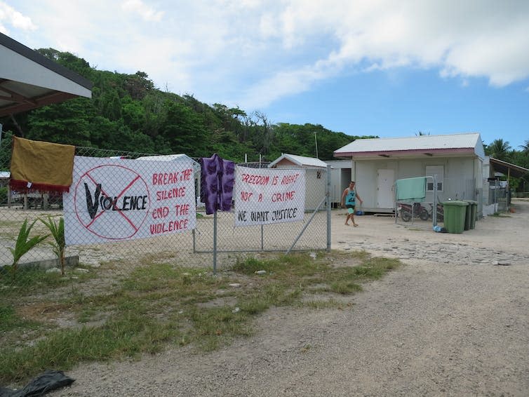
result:
[[[0,32],[272,123],[529,140],[526,0],[0,0]]]

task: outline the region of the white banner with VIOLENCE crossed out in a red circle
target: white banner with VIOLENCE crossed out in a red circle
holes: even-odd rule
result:
[[[192,159],[76,156],[72,187],[62,201],[67,245],[192,230],[196,226]]]

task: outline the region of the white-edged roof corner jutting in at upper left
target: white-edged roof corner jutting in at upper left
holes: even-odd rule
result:
[[[0,33],[0,117],[74,97],[92,97],[92,83]]]

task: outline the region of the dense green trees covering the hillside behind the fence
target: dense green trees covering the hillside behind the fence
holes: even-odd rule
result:
[[[207,105],[193,95],[159,90],[145,72],[121,74],[97,70],[71,53],[39,52],[93,82],[92,98],[4,117],[4,131],[32,140],[79,147],[153,154],[217,153],[236,162],[272,161],[281,153],[333,159],[333,151],[358,139],[321,125],[272,123],[261,112]]]

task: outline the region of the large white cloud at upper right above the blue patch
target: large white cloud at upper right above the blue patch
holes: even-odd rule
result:
[[[464,85],[471,77],[484,76],[502,87],[529,76],[527,1],[329,1],[309,2],[308,8],[304,1],[289,3],[276,15],[286,48],[304,46],[309,51],[318,32],[338,43],[324,59],[311,60],[297,72],[281,69],[255,84],[255,98],[264,104],[288,95],[288,88],[290,94],[302,92],[314,81],[335,76],[337,69],[361,65],[365,72],[438,68],[441,76],[459,76]],[[271,20],[267,15],[265,32],[272,29]],[[316,65],[323,65],[319,73],[307,74]],[[269,88],[268,95],[263,87]]]

